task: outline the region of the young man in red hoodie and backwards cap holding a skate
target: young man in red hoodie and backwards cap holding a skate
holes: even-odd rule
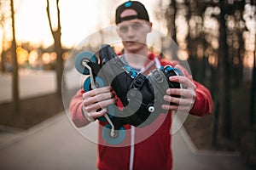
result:
[[[147,34],[152,29],[152,23],[142,3],[129,1],[119,5],[115,19],[119,37],[124,45],[124,56],[129,55],[125,58],[128,65],[140,71],[150,59],[154,61],[156,67],[167,64],[175,66],[155,57],[154,54],[148,54],[146,40]],[[204,116],[212,111],[212,98],[207,88],[193,81],[183,67],[176,66],[183,71],[184,77],[174,76],[169,77],[169,80],[180,82],[185,88],[166,90],[163,99],[175,105],[161,105],[168,114],[160,127],[148,138],[136,142],[143,133],[140,129],[125,125],[125,129],[132,129],[131,134],[126,137],[131,144],[123,147],[99,144],[97,163],[99,169],[172,169],[170,134],[172,111],[188,111],[196,116]],[[171,94],[181,97],[173,97]],[[74,124],[77,127],[84,127],[95,121],[97,117],[106,113],[108,105],[117,103],[117,100],[110,87],[96,88],[83,94],[79,91],[70,103],[70,114]]]

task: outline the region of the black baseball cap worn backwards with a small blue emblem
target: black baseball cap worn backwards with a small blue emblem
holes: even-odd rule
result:
[[[122,14],[122,12],[127,8],[134,9],[137,12],[137,14],[126,16],[126,17],[120,17],[120,14]],[[140,3],[137,1],[128,1],[119,5],[115,13],[115,24],[119,24],[123,20],[133,20],[133,19],[142,19],[142,20],[149,21],[148,11],[144,7],[143,3]]]

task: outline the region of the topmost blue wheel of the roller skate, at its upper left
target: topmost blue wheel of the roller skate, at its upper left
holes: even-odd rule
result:
[[[98,60],[94,54],[88,51],[81,52],[76,56],[75,67],[77,71],[79,71],[81,74],[89,75],[90,71],[84,66],[84,63],[86,62],[97,63]]]

